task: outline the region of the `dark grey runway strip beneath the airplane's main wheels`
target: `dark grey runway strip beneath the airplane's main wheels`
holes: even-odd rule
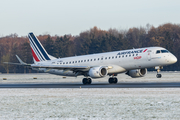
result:
[[[0,84],[0,88],[179,88],[180,82],[146,82],[146,83],[93,83],[83,85],[78,83],[26,83]]]

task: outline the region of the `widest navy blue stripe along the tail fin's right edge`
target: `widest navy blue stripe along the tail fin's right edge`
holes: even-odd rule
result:
[[[32,37],[32,39],[34,40],[34,42],[36,43],[36,45],[38,46],[39,50],[41,51],[41,53],[43,54],[43,56],[45,57],[46,60],[50,60],[49,56],[47,55],[47,53],[44,51],[44,49],[42,48],[42,46],[39,44],[39,41],[36,39],[36,37],[34,36],[33,33],[29,33],[29,35]]]

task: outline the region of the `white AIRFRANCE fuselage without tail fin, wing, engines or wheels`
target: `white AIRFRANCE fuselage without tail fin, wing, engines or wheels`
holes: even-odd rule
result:
[[[166,49],[162,47],[147,47],[67,58],[58,58],[50,61],[38,62],[36,64],[90,67],[107,66],[110,68],[108,69],[108,74],[118,74],[133,69],[166,66],[177,61],[177,58],[172,53],[157,53],[157,50]],[[39,68],[38,70],[63,76],[75,76],[76,74],[72,70],[68,69],[58,70]]]

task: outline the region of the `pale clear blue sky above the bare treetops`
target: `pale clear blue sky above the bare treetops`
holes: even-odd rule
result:
[[[180,24],[180,0],[0,0],[0,36]]]

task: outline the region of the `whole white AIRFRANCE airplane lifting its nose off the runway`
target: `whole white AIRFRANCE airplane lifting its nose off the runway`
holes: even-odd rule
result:
[[[145,47],[138,49],[121,50],[114,52],[81,55],[65,58],[55,58],[47,53],[38,38],[31,32],[28,34],[34,64],[24,63],[17,55],[20,63],[8,63],[23,65],[33,70],[61,76],[77,77],[83,75],[82,83],[91,84],[92,79],[110,76],[108,82],[116,84],[116,76],[120,73],[132,78],[144,77],[147,68],[154,67],[157,70],[157,78],[163,66],[177,62],[177,58],[162,47]]]

